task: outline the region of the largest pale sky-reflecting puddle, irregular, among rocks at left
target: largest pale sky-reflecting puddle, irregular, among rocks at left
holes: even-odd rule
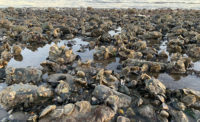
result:
[[[89,43],[83,41],[81,38],[74,38],[72,40],[62,40],[58,43],[52,42],[43,47],[36,47],[35,51],[25,47],[21,52],[21,59],[19,60],[19,58],[16,57],[12,58],[8,63],[8,67],[25,68],[27,66],[31,66],[41,68],[40,63],[45,61],[48,57],[51,46],[57,44],[58,46],[65,45],[66,47],[70,48],[67,46],[68,43],[73,43],[71,46],[73,52],[79,55],[83,61],[93,59],[94,50],[89,50],[87,48],[85,52],[78,52],[82,46],[86,46]]]

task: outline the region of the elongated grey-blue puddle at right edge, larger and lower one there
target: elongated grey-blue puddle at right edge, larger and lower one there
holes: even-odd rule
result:
[[[200,90],[200,80],[195,75],[169,75],[163,73],[159,74],[157,78],[169,89],[191,88]]]

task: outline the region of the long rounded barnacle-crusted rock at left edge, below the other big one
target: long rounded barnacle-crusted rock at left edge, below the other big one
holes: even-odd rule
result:
[[[52,90],[44,86],[14,84],[0,92],[0,104],[5,108],[13,108],[20,104],[28,106],[41,102],[41,98],[49,98],[52,95]]]

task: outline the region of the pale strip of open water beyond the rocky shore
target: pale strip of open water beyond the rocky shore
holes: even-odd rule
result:
[[[0,0],[0,7],[88,7],[200,9],[199,0]]]

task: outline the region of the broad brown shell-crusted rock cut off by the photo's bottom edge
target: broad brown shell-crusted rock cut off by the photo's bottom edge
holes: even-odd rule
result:
[[[86,101],[84,103],[82,103],[82,101],[80,101],[80,104],[85,104]],[[55,121],[55,119],[57,121],[66,121],[66,122],[76,122],[76,121],[82,121],[84,120],[85,122],[104,122],[104,121],[110,121],[114,115],[115,112],[107,107],[107,106],[92,106],[91,109],[88,109],[88,105],[90,106],[90,104],[87,104],[86,106],[79,106],[81,107],[81,109],[78,107],[75,107],[75,109],[72,111],[72,113],[70,115],[62,115],[59,118],[56,118],[54,116],[46,116],[42,119],[40,119],[40,122],[43,121]],[[86,110],[85,110],[86,107]]]

